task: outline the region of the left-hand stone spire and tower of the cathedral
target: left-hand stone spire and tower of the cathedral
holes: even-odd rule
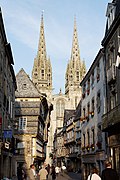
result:
[[[52,67],[50,58],[47,59],[43,14],[41,17],[40,38],[37,56],[34,59],[32,81],[41,93],[50,96],[52,93]]]

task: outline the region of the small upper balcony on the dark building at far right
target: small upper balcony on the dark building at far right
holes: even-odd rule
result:
[[[112,66],[107,70],[107,83],[113,83],[116,80],[116,66],[112,64]]]

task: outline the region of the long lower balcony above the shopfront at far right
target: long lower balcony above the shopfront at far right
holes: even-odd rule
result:
[[[120,105],[102,116],[102,129],[106,131],[118,123],[120,123]]]

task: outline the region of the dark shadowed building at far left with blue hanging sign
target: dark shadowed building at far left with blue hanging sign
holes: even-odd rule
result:
[[[12,177],[16,79],[0,9],[0,179]]]

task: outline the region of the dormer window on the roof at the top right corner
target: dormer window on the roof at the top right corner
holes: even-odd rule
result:
[[[108,29],[109,29],[115,18],[115,4],[114,3],[108,3],[106,16],[108,18]]]

